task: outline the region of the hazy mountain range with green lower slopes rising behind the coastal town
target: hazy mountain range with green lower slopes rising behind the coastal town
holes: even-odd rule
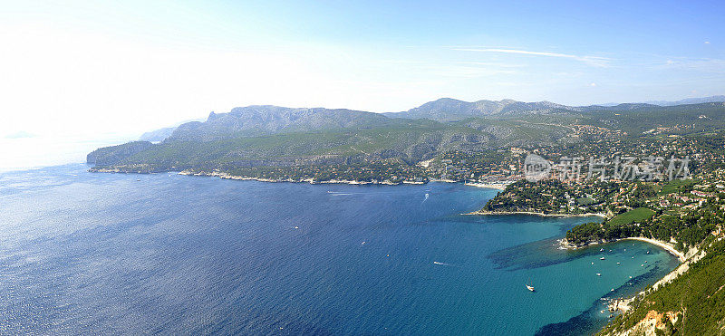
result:
[[[577,131],[583,126],[598,131]],[[725,102],[572,107],[548,101],[444,98],[398,113],[254,105],[212,112],[203,122],[147,134],[158,143],[135,141],[97,149],[88,162],[121,171],[391,160],[410,165],[451,150],[566,145],[601,137],[639,137],[655,128],[679,135],[725,130]]]

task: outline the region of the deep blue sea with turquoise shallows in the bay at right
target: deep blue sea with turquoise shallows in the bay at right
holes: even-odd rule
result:
[[[586,334],[677,265],[556,249],[597,218],[459,215],[486,188],[87,168],[0,174],[0,333]]]

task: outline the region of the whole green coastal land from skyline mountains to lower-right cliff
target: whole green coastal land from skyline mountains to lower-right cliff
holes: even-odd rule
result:
[[[387,116],[237,108],[212,113],[205,122],[183,124],[158,144],[136,141],[97,149],[88,162],[98,171],[183,170],[223,178],[510,183],[482,210],[609,218],[569,230],[565,241],[572,245],[643,236],[672,243],[683,252],[706,250],[708,256],[689,272],[635,302],[633,312],[618,317],[605,331],[632,328],[650,312],[670,312],[679,318],[654,315],[665,320],[657,332],[712,334],[725,326],[725,247],[720,241],[724,145],[722,102],[572,108],[550,102],[443,99]],[[581,158],[580,173],[587,178],[522,179],[530,153],[552,161]],[[613,163],[626,157],[636,158],[629,177],[615,175],[615,165],[590,170],[585,161]],[[646,158],[666,166],[672,157],[691,158],[695,178],[642,178]],[[562,171],[554,170],[555,175]],[[609,178],[599,179],[603,176]]]

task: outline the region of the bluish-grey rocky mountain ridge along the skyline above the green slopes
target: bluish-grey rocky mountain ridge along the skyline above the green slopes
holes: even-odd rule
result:
[[[441,98],[426,102],[419,107],[401,112],[372,113],[360,110],[329,110],[324,108],[285,108],[273,105],[252,105],[238,107],[228,113],[209,114],[208,120],[194,120],[144,133],[140,140],[159,142],[164,139],[224,139],[227,134],[238,133],[247,136],[273,134],[285,131],[334,130],[355,127],[394,126],[391,119],[460,121],[469,118],[498,116],[510,118],[517,115],[569,115],[595,110],[641,110],[658,106],[669,107],[683,104],[725,101],[725,96],[690,98],[681,101],[648,101],[643,103],[620,103],[589,106],[567,106],[551,101],[459,101]],[[383,118],[388,117],[388,118]]]

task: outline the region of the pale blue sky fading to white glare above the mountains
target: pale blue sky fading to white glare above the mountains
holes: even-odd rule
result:
[[[389,112],[441,97],[585,105],[725,94],[718,1],[0,8],[0,168],[80,162],[99,143],[253,104]]]

